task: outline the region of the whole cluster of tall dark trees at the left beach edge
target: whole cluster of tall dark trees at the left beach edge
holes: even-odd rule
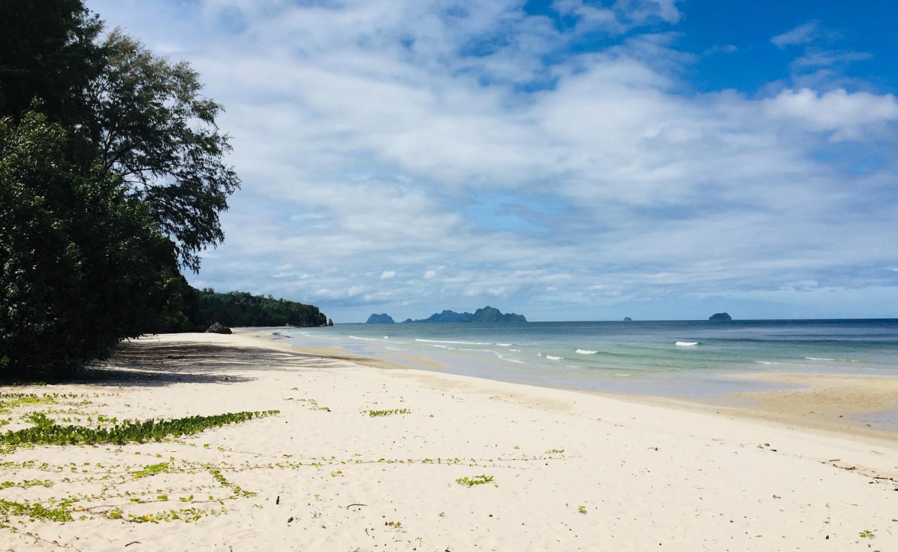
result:
[[[180,270],[224,240],[240,186],[222,106],[82,0],[0,0],[0,14],[0,376],[65,373],[204,322]]]

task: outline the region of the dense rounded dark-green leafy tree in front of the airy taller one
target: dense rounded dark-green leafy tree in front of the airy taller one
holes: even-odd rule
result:
[[[0,119],[0,373],[66,372],[165,315],[172,243],[119,175],[44,115]]]

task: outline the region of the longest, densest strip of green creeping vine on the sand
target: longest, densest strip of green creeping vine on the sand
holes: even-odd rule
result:
[[[262,412],[234,412],[216,416],[188,416],[174,420],[145,420],[125,422],[110,427],[84,427],[81,425],[56,425],[46,415],[31,417],[35,425],[16,432],[0,434],[0,444],[18,446],[22,444],[97,444],[112,442],[162,441],[169,436],[197,434],[210,427],[238,424],[253,418],[278,414],[278,410]],[[160,469],[159,464],[145,469]]]

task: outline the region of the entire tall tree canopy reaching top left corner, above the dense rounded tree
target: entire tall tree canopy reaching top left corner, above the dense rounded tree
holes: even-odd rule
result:
[[[0,117],[40,111],[81,140],[81,160],[119,174],[174,241],[180,264],[224,239],[219,214],[240,179],[225,163],[222,106],[186,62],[158,57],[82,0],[0,0]]]

